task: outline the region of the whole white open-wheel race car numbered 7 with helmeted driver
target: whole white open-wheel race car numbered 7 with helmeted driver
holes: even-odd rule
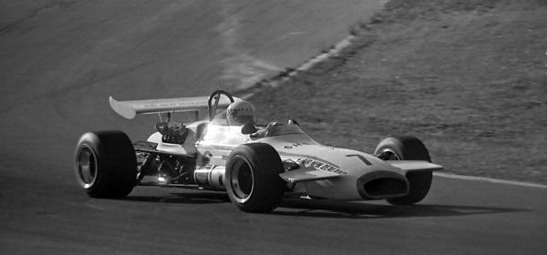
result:
[[[292,119],[257,125],[253,105],[223,90],[210,97],[110,97],[109,103],[122,117],[155,113],[160,122],[146,141],[132,143],[121,131],[79,139],[77,181],[92,198],[159,186],[226,191],[246,212],[272,211],[284,196],[411,205],[427,196],[432,171],[442,169],[418,138],[385,138],[366,154],[322,145]],[[194,112],[195,122],[172,121],[175,112]]]

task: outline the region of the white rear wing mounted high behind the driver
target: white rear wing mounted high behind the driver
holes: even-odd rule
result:
[[[236,97],[234,97],[236,98]],[[133,101],[118,101],[109,97],[110,107],[121,117],[134,118],[137,114],[173,113],[173,112],[198,112],[208,109],[209,97],[181,97],[148,99]],[[239,99],[239,98],[237,98]],[[237,100],[236,99],[236,100]],[[221,97],[218,107],[228,107],[230,99]]]

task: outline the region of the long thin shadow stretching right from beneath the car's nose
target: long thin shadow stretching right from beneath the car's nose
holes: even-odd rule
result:
[[[495,214],[528,211],[470,205],[417,204],[412,206],[381,205],[366,202],[335,200],[284,199],[272,214],[295,217],[376,219],[376,218],[418,218],[456,217],[478,214]]]

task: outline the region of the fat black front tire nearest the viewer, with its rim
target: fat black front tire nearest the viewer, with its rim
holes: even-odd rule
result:
[[[228,196],[245,212],[270,212],[284,195],[283,165],[279,154],[263,143],[235,148],[226,164],[224,186]]]

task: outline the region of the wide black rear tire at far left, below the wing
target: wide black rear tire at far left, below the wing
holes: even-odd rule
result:
[[[77,182],[91,198],[124,198],[135,186],[135,150],[121,131],[84,134],[77,142],[75,159]]]

